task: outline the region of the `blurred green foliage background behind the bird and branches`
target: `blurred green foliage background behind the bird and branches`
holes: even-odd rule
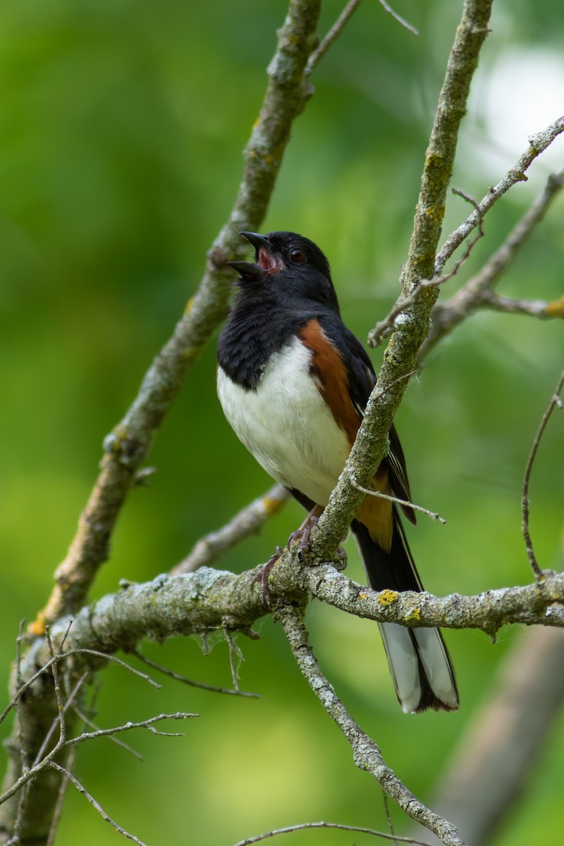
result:
[[[363,339],[397,294],[461,6],[397,0],[419,37],[378,3],[359,8],[315,71],[315,97],[294,126],[262,227],[303,232],[326,250],[343,316]],[[332,0],[324,5],[324,30],[340,8]],[[283,0],[5,0],[0,8],[4,689],[19,621],[34,618],[47,599],[96,477],[102,438],[194,293],[205,250],[231,208],[285,12]],[[476,197],[512,166],[528,135],[561,113],[564,91],[560,0],[505,0],[491,27],[453,179]],[[556,154],[552,163],[535,164],[528,184],[490,213],[486,238],[443,297],[501,242],[550,167],[561,167],[561,143]],[[503,294],[561,295],[562,203],[507,273]],[[452,198],[445,234],[467,213]],[[222,418],[214,347],[201,356],[162,427],[149,459],[158,472],[124,508],[94,596],[115,591],[122,578],[142,581],[167,571],[270,484]],[[561,323],[480,314],[433,351],[409,387],[397,426],[413,495],[447,520],[441,527],[419,519],[409,531],[430,591],[475,593],[531,579],[520,534],[523,468],[562,349]],[[377,350],[376,366],[380,357]],[[539,561],[556,569],[562,441],[555,415],[531,488]],[[301,517],[297,505],[287,506],[221,566],[241,571],[265,561]],[[349,552],[348,572],[362,579]],[[484,634],[447,632],[462,709],[406,717],[374,625],[315,604],[309,626],[337,693],[408,788],[429,799],[517,629],[504,629],[496,645]],[[97,707],[104,727],[162,711],[201,714],[184,727],[183,739],[129,736],[144,763],[107,740],[79,752],[76,772],[85,787],[146,843],[227,846],[319,819],[386,829],[379,789],[354,768],[280,629],[270,619],[259,628],[258,642],[238,643],[241,685],[260,700],[203,694],[166,679],[156,693],[116,667],[103,673]],[[145,651],[191,678],[230,683],[221,639],[206,657],[195,640]],[[526,798],[496,837],[499,846],[556,842],[561,832],[557,749],[564,720],[550,740]],[[116,832],[68,791],[57,843],[116,843]],[[392,818],[401,833],[401,812],[392,808]],[[287,842],[369,841],[304,832]]]

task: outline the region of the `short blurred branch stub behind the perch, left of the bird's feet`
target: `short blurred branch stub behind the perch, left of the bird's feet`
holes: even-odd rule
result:
[[[282,485],[271,487],[262,497],[239,511],[222,529],[201,538],[187,557],[171,570],[171,575],[192,573],[199,567],[209,567],[228,549],[259,532],[268,519],[278,514],[289,497],[290,494]]]

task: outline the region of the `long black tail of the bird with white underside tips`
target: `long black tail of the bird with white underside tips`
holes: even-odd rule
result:
[[[402,524],[393,509],[390,552],[372,540],[365,525],[354,520],[351,526],[359,546],[370,587],[375,591],[423,591]],[[396,623],[380,624],[382,640],[397,699],[406,713],[456,711],[457,683],[451,660],[439,629],[408,629]]]

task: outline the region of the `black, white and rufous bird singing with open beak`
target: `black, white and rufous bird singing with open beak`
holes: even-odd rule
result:
[[[376,376],[344,324],[326,255],[293,232],[241,232],[255,261],[227,261],[237,293],[217,343],[216,387],[227,422],[258,463],[307,508],[327,505]],[[415,523],[394,426],[351,524],[370,587],[423,591],[400,518]],[[456,711],[457,684],[439,629],[379,624],[397,699],[406,713]]]

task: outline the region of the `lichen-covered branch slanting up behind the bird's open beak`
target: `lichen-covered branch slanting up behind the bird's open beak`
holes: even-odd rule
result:
[[[266,213],[294,118],[312,93],[304,69],[314,50],[320,0],[291,0],[268,69],[266,96],[244,151],[244,178],[233,211],[208,253],[205,275],[172,338],[156,356],[123,420],[106,438],[101,473],[79,519],[67,558],[36,630],[85,602],[96,571],[106,559],[113,526],[141,462],[189,367],[227,309],[225,262],[244,245],[241,229],[260,226]]]

